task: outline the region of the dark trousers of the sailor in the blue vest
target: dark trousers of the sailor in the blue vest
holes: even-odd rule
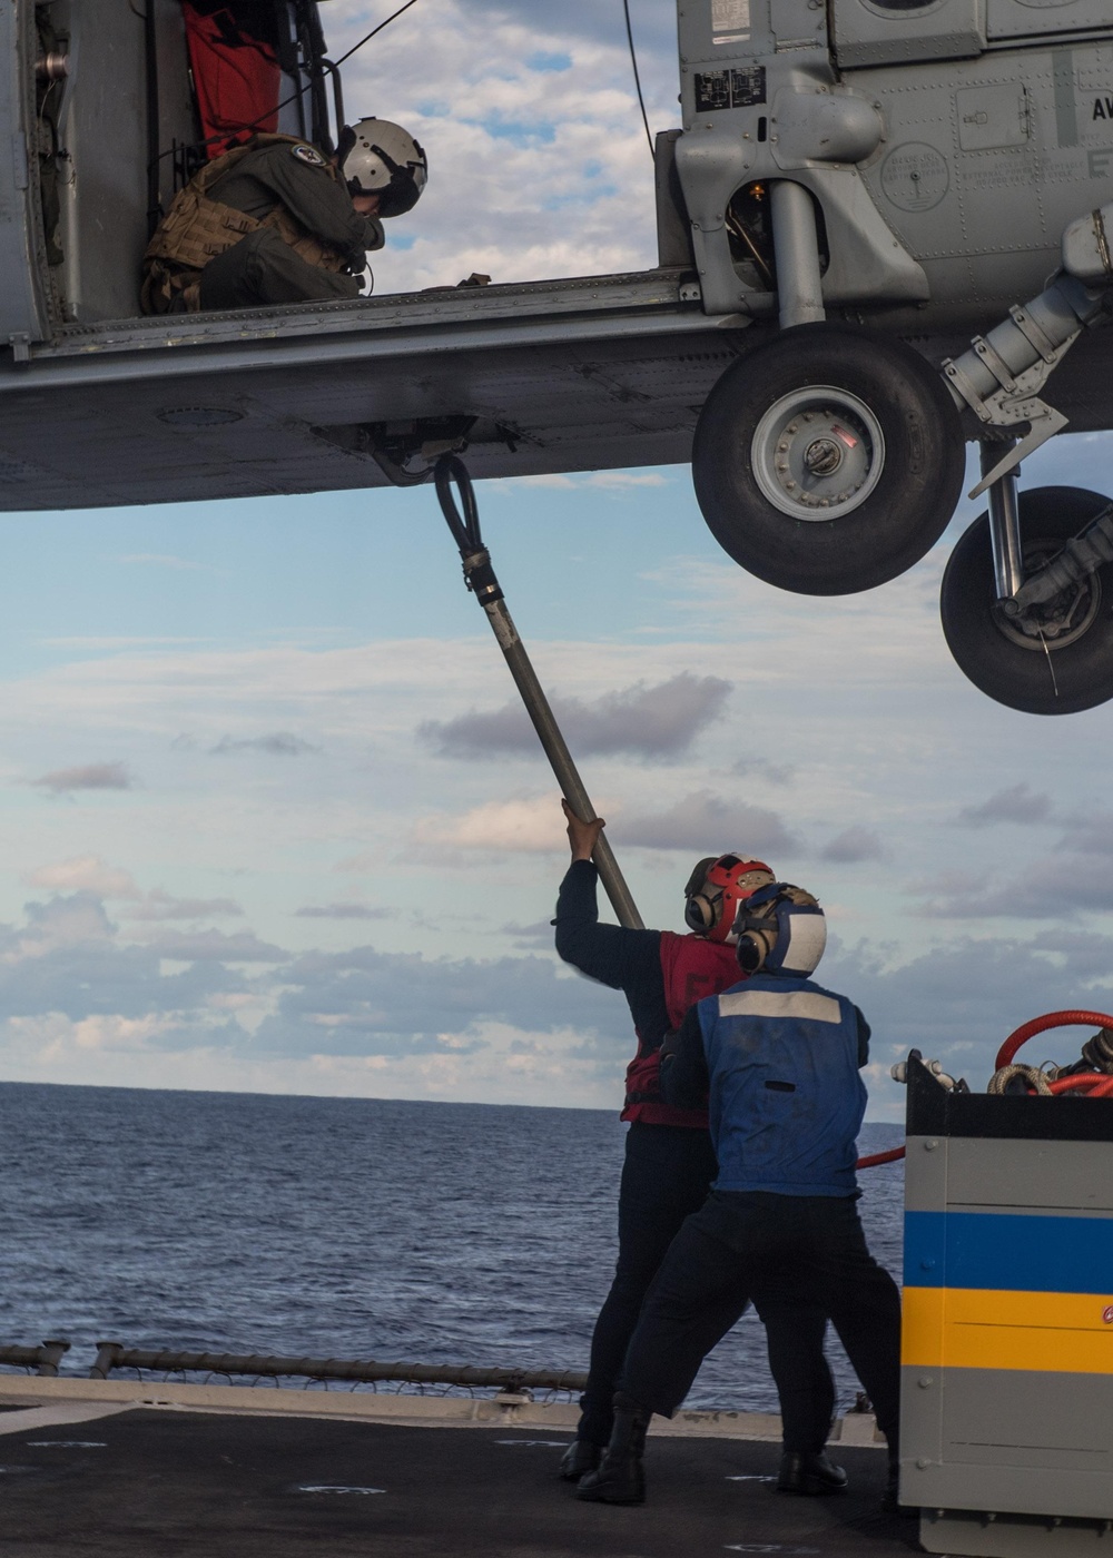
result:
[[[670,1418],[709,1343],[753,1299],[768,1317],[814,1302],[834,1321],[896,1452],[901,1298],[865,1245],[854,1197],[716,1190],[673,1240],[645,1298],[619,1388]],[[719,1335],[716,1335],[716,1329]]]

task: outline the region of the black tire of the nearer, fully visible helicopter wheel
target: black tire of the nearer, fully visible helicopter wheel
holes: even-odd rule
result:
[[[822,478],[826,488],[804,491],[815,481],[804,472],[798,500],[773,488],[784,509],[767,495],[770,483],[781,481],[772,449],[787,446],[770,442],[768,433],[759,438],[762,419],[797,391],[806,405],[809,386],[831,388],[836,411],[837,396],[846,393],[882,435],[874,449],[867,422],[859,422],[867,464],[870,450],[878,458],[859,481],[865,495],[836,492],[831,517],[817,508],[815,494],[839,483],[837,475]],[[822,394],[814,404],[826,405]],[[793,422],[787,430],[795,432]],[[797,436],[787,460],[798,460],[797,446],[807,436]],[[851,595],[910,569],[946,530],[965,469],[959,413],[923,357],[899,341],[829,324],[786,330],[728,368],[708,396],[692,449],[695,495],[719,545],[750,573],[801,595]],[[783,485],[800,474],[793,466]]]

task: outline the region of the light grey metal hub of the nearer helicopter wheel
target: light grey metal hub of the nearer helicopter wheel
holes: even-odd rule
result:
[[[885,460],[881,425],[856,394],[804,385],[765,411],[750,449],[754,480],[781,514],[831,520],[876,488]]]

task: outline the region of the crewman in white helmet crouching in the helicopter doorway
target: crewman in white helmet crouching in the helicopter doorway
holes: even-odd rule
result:
[[[357,298],[382,218],[412,210],[426,153],[385,118],[346,125],[334,156],[253,136],[179,190],[143,254],[143,313]]]

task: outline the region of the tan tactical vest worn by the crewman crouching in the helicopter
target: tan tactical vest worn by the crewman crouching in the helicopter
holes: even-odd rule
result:
[[[193,174],[184,190],[178,190],[143,254],[143,313],[170,313],[182,304],[187,313],[196,313],[201,307],[200,282],[204,266],[259,227],[274,227],[279,238],[307,265],[323,271],[344,270],[346,256],[321,243],[285,206],[276,206],[267,217],[257,218],[206,193],[249,153],[276,145],[298,146],[302,142],[298,136],[253,136],[243,146],[214,157]],[[340,173],[334,167],[327,171],[340,182]]]

